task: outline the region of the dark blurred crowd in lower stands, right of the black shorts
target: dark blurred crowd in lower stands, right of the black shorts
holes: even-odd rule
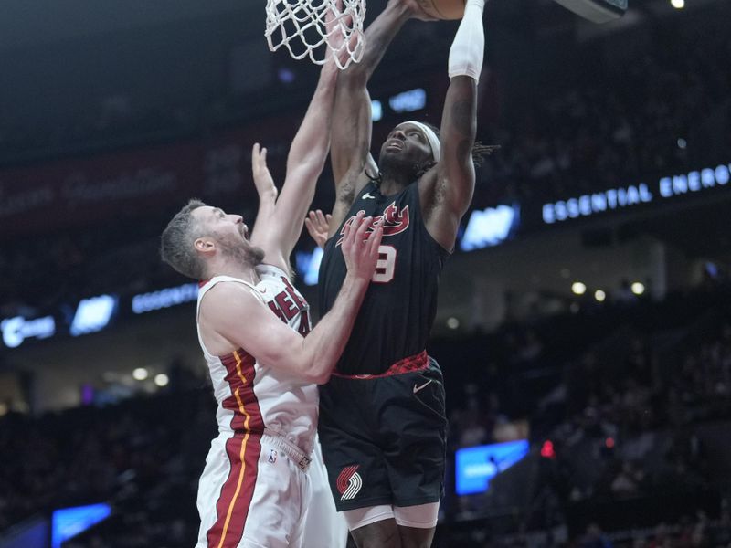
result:
[[[471,342],[469,380],[450,387],[447,368],[451,448],[523,437],[527,423],[532,451],[486,494],[451,500],[452,514],[575,541],[588,520],[613,531],[600,542],[589,528],[581,546],[728,545],[729,290],[617,303]],[[504,545],[560,544],[521,538]]]

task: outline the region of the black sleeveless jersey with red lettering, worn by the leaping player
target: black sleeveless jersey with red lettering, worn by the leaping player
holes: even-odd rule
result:
[[[320,266],[320,313],[333,306],[347,269],[341,249],[343,228],[364,211],[374,222],[383,217],[383,240],[376,274],[345,351],[341,374],[381,374],[391,364],[424,350],[437,312],[437,289],[449,256],[434,240],[421,216],[418,185],[384,196],[376,184],[365,186],[344,223],[324,248]]]

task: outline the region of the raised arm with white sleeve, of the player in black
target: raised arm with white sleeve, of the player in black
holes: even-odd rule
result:
[[[467,0],[450,49],[450,87],[440,128],[441,160],[419,183],[429,234],[452,249],[461,217],[474,193],[472,147],[477,131],[477,82],[484,56],[482,11],[485,0]]]

